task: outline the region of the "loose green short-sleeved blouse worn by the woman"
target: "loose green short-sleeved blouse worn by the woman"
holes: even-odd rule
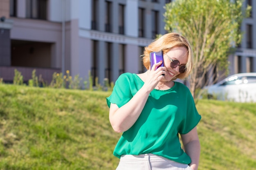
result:
[[[133,73],[117,79],[107,104],[126,104],[144,82]],[[151,153],[189,164],[190,157],[182,150],[178,133],[186,134],[200,121],[193,97],[184,84],[175,82],[168,90],[154,89],[135,124],[123,132],[114,150],[116,157]]]

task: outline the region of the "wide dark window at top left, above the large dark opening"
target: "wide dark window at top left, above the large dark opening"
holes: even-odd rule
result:
[[[26,11],[27,18],[46,20],[47,0],[27,0]]]

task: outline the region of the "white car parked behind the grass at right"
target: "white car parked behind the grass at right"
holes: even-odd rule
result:
[[[256,73],[239,73],[206,86],[209,98],[234,102],[256,102]]]

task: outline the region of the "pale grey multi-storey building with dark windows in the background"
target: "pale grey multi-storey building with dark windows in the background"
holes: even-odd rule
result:
[[[69,70],[115,82],[124,72],[141,73],[140,55],[164,34],[164,5],[171,0],[0,0],[0,77],[14,69],[31,79],[36,69],[49,84]],[[245,4],[256,2],[247,0]],[[242,25],[246,35],[230,57],[230,74],[256,72],[256,13]],[[95,82],[94,82],[95,83]]]

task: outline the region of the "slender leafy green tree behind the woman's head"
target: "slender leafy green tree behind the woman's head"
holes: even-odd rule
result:
[[[243,0],[175,0],[166,4],[165,29],[184,35],[194,51],[190,90],[213,84],[228,72],[228,56],[241,42],[240,24],[251,7]],[[222,74],[224,73],[224,74]],[[205,77],[211,75],[211,77]]]

